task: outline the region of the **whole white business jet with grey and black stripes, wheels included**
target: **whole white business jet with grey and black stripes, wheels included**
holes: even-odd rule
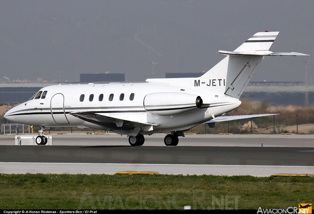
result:
[[[241,94],[265,56],[309,56],[273,53],[268,49],[279,32],[259,32],[198,78],[147,79],[145,83],[53,85],[11,110],[12,122],[36,125],[39,145],[46,144],[45,127],[79,127],[127,135],[132,146],[144,144],[144,134],[171,132],[167,146],[201,123],[255,118],[274,114],[221,116],[241,105]]]

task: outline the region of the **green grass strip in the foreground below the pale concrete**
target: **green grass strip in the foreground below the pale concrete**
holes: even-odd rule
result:
[[[313,192],[313,177],[0,174],[0,209],[285,209]]]

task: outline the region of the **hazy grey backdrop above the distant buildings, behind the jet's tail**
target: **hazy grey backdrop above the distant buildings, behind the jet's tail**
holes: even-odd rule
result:
[[[50,22],[46,22],[47,26],[38,24],[41,23],[41,17],[45,17],[42,20],[48,21],[64,19],[68,20],[68,23],[87,23],[94,26],[90,28],[90,32],[93,33],[86,36],[89,32],[88,28],[84,28],[84,34],[83,31],[75,29],[67,31],[65,26],[68,25],[64,24],[65,22],[55,24],[52,31]],[[38,23],[34,23],[34,20],[38,20]],[[96,23],[100,21],[105,23],[104,32],[96,29],[100,26]],[[112,25],[115,23],[119,26],[125,23],[124,25],[127,26],[122,29],[128,27],[128,31],[111,32],[108,36],[108,29],[114,29]],[[74,67],[78,66],[79,73],[110,71],[125,73],[129,81],[144,81],[151,77],[152,69],[148,64],[149,61],[159,63],[155,69],[155,77],[159,78],[164,78],[165,72],[202,72],[209,70],[223,59],[223,56],[216,54],[218,50],[233,51],[254,33],[266,30],[280,31],[270,48],[271,51],[293,51],[314,55],[314,1],[312,0],[2,0],[0,1],[0,26],[2,26],[0,28],[0,76],[10,76],[11,79],[35,80],[37,77],[44,77],[50,81],[58,79],[56,72],[62,69],[64,80],[75,81],[76,68]],[[27,30],[25,26],[28,26]],[[62,34],[58,38],[55,35],[56,28],[59,28],[58,34]],[[33,29],[36,41],[33,41],[30,36]],[[28,33],[24,34],[23,32],[26,31]],[[145,33],[139,35],[138,39],[147,46],[135,40],[135,35],[144,31]],[[18,37],[15,34],[22,36]],[[103,40],[106,44],[100,46],[95,41],[99,41],[102,34],[106,35]],[[64,45],[50,46],[49,43],[53,44],[58,39]],[[75,49],[86,40],[89,40],[88,47],[84,43],[84,50]],[[42,49],[41,44],[44,43],[48,45]],[[112,47],[109,47],[108,43],[112,44]],[[174,47],[173,50],[169,48],[171,45]],[[62,46],[67,47],[67,50],[62,50]],[[97,50],[97,47],[106,48]],[[54,52],[51,50],[53,48]],[[95,51],[98,51],[96,56],[99,56],[99,59],[95,57]],[[33,54],[34,57],[27,56],[27,53]],[[45,55],[46,53],[48,54]],[[63,57],[58,58],[58,53],[62,53]],[[81,64],[75,62],[74,58],[78,58]],[[14,60],[10,61],[10,59]],[[313,64],[308,65],[309,79],[313,83],[313,57],[266,57],[252,81],[304,81],[305,65],[302,62],[309,59],[313,60]]]

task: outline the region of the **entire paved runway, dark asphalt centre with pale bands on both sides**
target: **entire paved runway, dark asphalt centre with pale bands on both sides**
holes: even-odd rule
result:
[[[1,136],[0,172],[314,174],[312,135],[189,135],[176,147],[165,146],[164,136],[145,136],[138,147],[118,135],[54,135],[53,146],[12,146]]]

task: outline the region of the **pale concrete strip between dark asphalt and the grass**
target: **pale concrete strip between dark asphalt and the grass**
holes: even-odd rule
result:
[[[194,164],[117,164],[117,163],[25,163],[0,162],[5,174],[115,174],[119,171],[157,171],[172,175],[251,175],[314,174],[314,166],[194,165]]]

